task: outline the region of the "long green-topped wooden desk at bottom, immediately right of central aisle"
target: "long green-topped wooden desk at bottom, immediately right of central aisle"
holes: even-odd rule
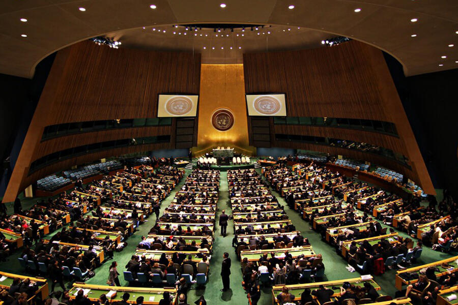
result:
[[[304,291],[305,288],[309,288],[310,290],[318,289],[320,285],[325,286],[327,289],[331,289],[334,291],[334,294],[331,297],[339,297],[340,296],[340,287],[344,282],[350,282],[355,286],[363,286],[364,282],[369,282],[376,290],[380,290],[380,285],[378,285],[372,278],[366,281],[363,281],[361,277],[359,278],[352,278],[352,279],[344,279],[344,280],[337,280],[337,281],[328,281],[328,282],[316,282],[316,283],[307,283],[307,284],[296,284],[296,285],[281,285],[281,286],[273,286],[272,287],[272,299],[274,304],[278,304],[277,302],[277,295],[281,292],[283,286],[286,286],[289,289],[289,292],[295,296],[295,301],[300,301],[301,293]],[[338,289],[332,289],[333,286],[338,287]],[[388,301],[389,304],[391,301]],[[371,303],[374,304],[374,303]],[[375,303],[377,304],[377,303]]]

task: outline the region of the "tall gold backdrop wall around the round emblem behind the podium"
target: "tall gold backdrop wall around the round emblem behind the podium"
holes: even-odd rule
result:
[[[202,65],[199,95],[197,147],[193,152],[200,155],[215,146],[231,146],[252,155],[255,148],[248,146],[243,65]],[[212,114],[220,108],[229,109],[234,116],[234,125],[226,131],[212,124]]]

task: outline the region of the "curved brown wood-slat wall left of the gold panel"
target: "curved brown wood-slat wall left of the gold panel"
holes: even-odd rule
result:
[[[73,165],[138,151],[175,148],[175,118],[171,126],[133,127],[40,140],[44,127],[54,124],[157,117],[158,94],[199,93],[200,69],[200,54],[111,49],[90,41],[59,51],[3,202],[13,201],[18,192],[37,179]],[[102,141],[156,135],[170,135],[170,143],[105,150],[52,164],[28,176],[33,161],[56,151]]]

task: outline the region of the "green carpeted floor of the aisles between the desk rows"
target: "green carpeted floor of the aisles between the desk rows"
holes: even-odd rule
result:
[[[260,170],[258,171],[260,172]],[[186,175],[188,175],[189,173],[190,171],[187,170]],[[184,184],[184,181],[185,178],[182,179],[182,181],[175,188],[175,190],[162,202],[161,215],[163,213],[164,208],[167,207],[173,200],[176,191],[179,190],[181,186]],[[304,220],[302,220],[296,211],[290,209],[278,193],[273,192],[273,194],[277,196],[280,204],[284,205],[285,212],[288,214],[289,218],[296,226],[296,228],[299,231],[301,231],[303,236],[309,238],[314,251],[316,253],[321,253],[323,255],[323,262],[326,267],[325,276],[327,280],[340,280],[346,278],[359,277],[358,272],[351,273],[347,271],[347,269],[345,268],[347,266],[346,261],[335,252],[333,247],[329,246],[326,242],[322,241],[320,235],[312,231],[309,228],[310,225],[306,223]],[[24,200],[23,208],[30,207],[34,202],[34,199]],[[229,197],[227,187],[227,174],[226,172],[221,172],[220,193],[216,223],[218,223],[218,215],[221,213],[221,210],[225,209],[226,214],[232,214],[232,210],[230,205],[228,205],[228,202]],[[10,211],[11,207],[8,206],[8,209]],[[154,214],[150,215],[150,217],[147,219],[147,222],[140,225],[138,230],[132,236],[129,237],[129,239],[127,240],[128,246],[122,252],[115,253],[114,260],[116,260],[119,264],[118,270],[121,273],[120,281],[123,286],[127,286],[127,282],[124,281],[122,276],[122,271],[125,270],[124,266],[130,259],[131,255],[135,252],[135,248],[138,245],[138,242],[141,240],[141,236],[148,234],[150,228],[154,225],[155,221],[156,217],[154,216]],[[385,227],[385,225],[383,224],[382,226]],[[216,231],[214,233],[215,241],[213,244],[213,256],[211,258],[210,264],[209,281],[205,288],[193,288],[188,292],[189,303],[193,303],[199,296],[204,294],[209,305],[220,304],[223,302],[227,302],[228,304],[247,304],[246,294],[244,293],[241,287],[242,273],[240,269],[240,261],[237,259],[234,252],[234,248],[232,247],[232,238],[234,237],[233,232],[233,221],[230,221],[228,224],[228,234],[226,237],[222,237],[220,235],[219,226],[216,226]],[[407,237],[405,233],[399,232],[399,234]],[[50,238],[50,236],[52,236],[52,234],[47,235],[46,238]],[[21,250],[18,250],[15,253],[13,253],[13,255],[9,257],[9,261],[0,263],[0,270],[23,274],[23,270],[20,268],[19,263],[17,261],[17,257],[19,256],[20,251]],[[222,293],[219,291],[222,288],[221,277],[219,275],[219,272],[221,268],[222,255],[224,252],[228,252],[230,254],[232,260],[232,275],[231,290]],[[437,260],[448,258],[450,256],[451,255],[449,254],[433,251],[431,248],[424,248],[421,259],[415,265],[434,262]],[[102,266],[97,268],[95,270],[96,276],[92,279],[87,280],[86,282],[88,284],[106,285],[105,283],[108,277],[108,269],[111,262],[112,260],[106,261]],[[396,291],[394,287],[394,275],[395,270],[389,270],[385,272],[383,276],[375,277],[376,282],[382,287],[383,294],[389,294],[391,296],[394,296],[394,292]],[[57,287],[56,289],[60,288]],[[263,290],[259,304],[272,304],[272,296],[270,289],[266,288]]]

